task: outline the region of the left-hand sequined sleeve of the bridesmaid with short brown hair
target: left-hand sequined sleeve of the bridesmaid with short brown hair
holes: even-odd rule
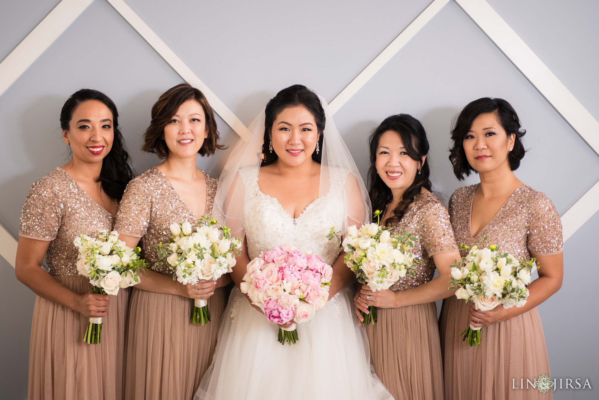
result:
[[[134,237],[147,233],[152,212],[152,186],[140,175],[127,185],[116,214],[114,230]]]

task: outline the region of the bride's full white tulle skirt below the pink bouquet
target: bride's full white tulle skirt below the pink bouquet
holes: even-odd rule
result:
[[[214,361],[195,399],[389,399],[374,374],[368,339],[343,288],[282,345],[268,322],[235,287],[222,316]]]

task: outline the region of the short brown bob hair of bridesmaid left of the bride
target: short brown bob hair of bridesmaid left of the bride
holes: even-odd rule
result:
[[[204,109],[205,125],[208,131],[208,137],[204,139],[204,144],[199,149],[198,154],[211,155],[216,149],[224,149],[226,146],[219,144],[219,131],[216,128],[216,120],[212,107],[208,100],[199,89],[181,83],[164,92],[152,107],[152,121],[144,133],[144,144],[141,149],[148,153],[156,153],[158,158],[164,160],[168,157],[168,146],[164,139],[164,128],[171,122],[173,115],[177,113],[181,104],[187,100],[195,100],[201,104]]]

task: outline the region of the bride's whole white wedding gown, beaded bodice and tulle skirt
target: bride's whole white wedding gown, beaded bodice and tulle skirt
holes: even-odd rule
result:
[[[255,175],[248,172],[240,170],[250,260],[289,244],[332,265],[337,240],[326,235],[332,226],[340,228],[344,218],[338,193],[345,176],[332,172],[328,194],[292,218],[277,199],[259,190]],[[352,305],[352,292],[344,287],[310,321],[297,324],[296,344],[282,345],[277,341],[279,326],[268,322],[235,287],[221,318],[213,362],[195,399],[392,400],[374,374],[368,338]]]

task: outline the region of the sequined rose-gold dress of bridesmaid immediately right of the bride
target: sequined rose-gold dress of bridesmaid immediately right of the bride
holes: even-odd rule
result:
[[[415,277],[400,278],[391,290],[410,290],[430,281],[433,255],[458,250],[449,214],[434,194],[427,192],[392,228],[418,236],[413,254],[422,258]],[[377,308],[377,323],[367,325],[374,371],[395,399],[443,399],[443,366],[434,302],[400,308]]]

